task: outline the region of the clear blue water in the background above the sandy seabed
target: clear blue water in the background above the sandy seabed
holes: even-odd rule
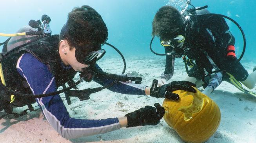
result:
[[[236,20],[245,32],[247,46],[244,61],[256,60],[254,45],[256,29],[256,11],[254,0],[191,0],[194,6],[209,6],[211,13],[224,14]],[[20,27],[27,25],[29,20],[38,20],[43,14],[51,17],[50,23],[52,34],[59,34],[60,29],[67,19],[73,7],[90,5],[102,15],[108,30],[107,42],[113,44],[125,56],[130,55],[153,55],[149,50],[151,40],[152,20],[156,11],[163,5],[172,5],[178,9],[185,6],[185,0],[5,0],[1,2],[0,20],[2,33],[15,33]],[[243,40],[238,28],[227,21],[232,34],[236,38],[238,54],[241,53]],[[6,37],[0,37],[5,41]],[[153,42],[154,50],[163,53],[159,41]],[[111,48],[104,47],[108,54],[116,54]],[[2,47],[1,47],[2,49]],[[110,49],[110,50],[109,50]],[[116,54],[117,55],[117,54]],[[157,56],[156,56],[157,57]]]

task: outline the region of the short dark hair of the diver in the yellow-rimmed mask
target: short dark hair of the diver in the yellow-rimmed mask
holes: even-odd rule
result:
[[[182,31],[183,21],[180,12],[172,6],[161,7],[152,22],[152,36],[167,41]]]

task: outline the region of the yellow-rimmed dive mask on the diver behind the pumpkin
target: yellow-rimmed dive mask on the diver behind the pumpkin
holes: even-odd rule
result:
[[[184,41],[185,41],[185,37],[183,35],[178,35],[175,38],[168,41],[161,40],[161,45],[171,46],[172,48],[182,48]]]

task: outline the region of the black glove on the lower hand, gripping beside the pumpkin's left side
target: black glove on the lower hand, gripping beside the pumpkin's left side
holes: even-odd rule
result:
[[[163,118],[164,113],[165,110],[159,103],[155,103],[154,107],[145,106],[125,115],[127,117],[126,127],[157,125]]]

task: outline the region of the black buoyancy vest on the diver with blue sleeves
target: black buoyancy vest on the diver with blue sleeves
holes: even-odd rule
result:
[[[38,41],[35,41],[29,45],[23,47],[16,47],[16,50],[11,53],[10,56],[6,57],[2,61],[3,72],[7,87],[11,87],[13,90],[20,93],[31,94],[31,90],[27,84],[27,81],[18,73],[16,70],[16,64],[19,57],[22,54],[32,54],[40,62],[47,65],[49,71],[53,74],[56,81],[56,87],[62,86],[66,82],[73,80],[76,71],[73,68],[64,70],[61,64],[60,55],[58,52],[59,36],[52,35]],[[11,95],[1,90],[1,100],[10,102]],[[12,102],[12,105],[22,107],[27,104],[34,103],[34,98],[16,97]]]

